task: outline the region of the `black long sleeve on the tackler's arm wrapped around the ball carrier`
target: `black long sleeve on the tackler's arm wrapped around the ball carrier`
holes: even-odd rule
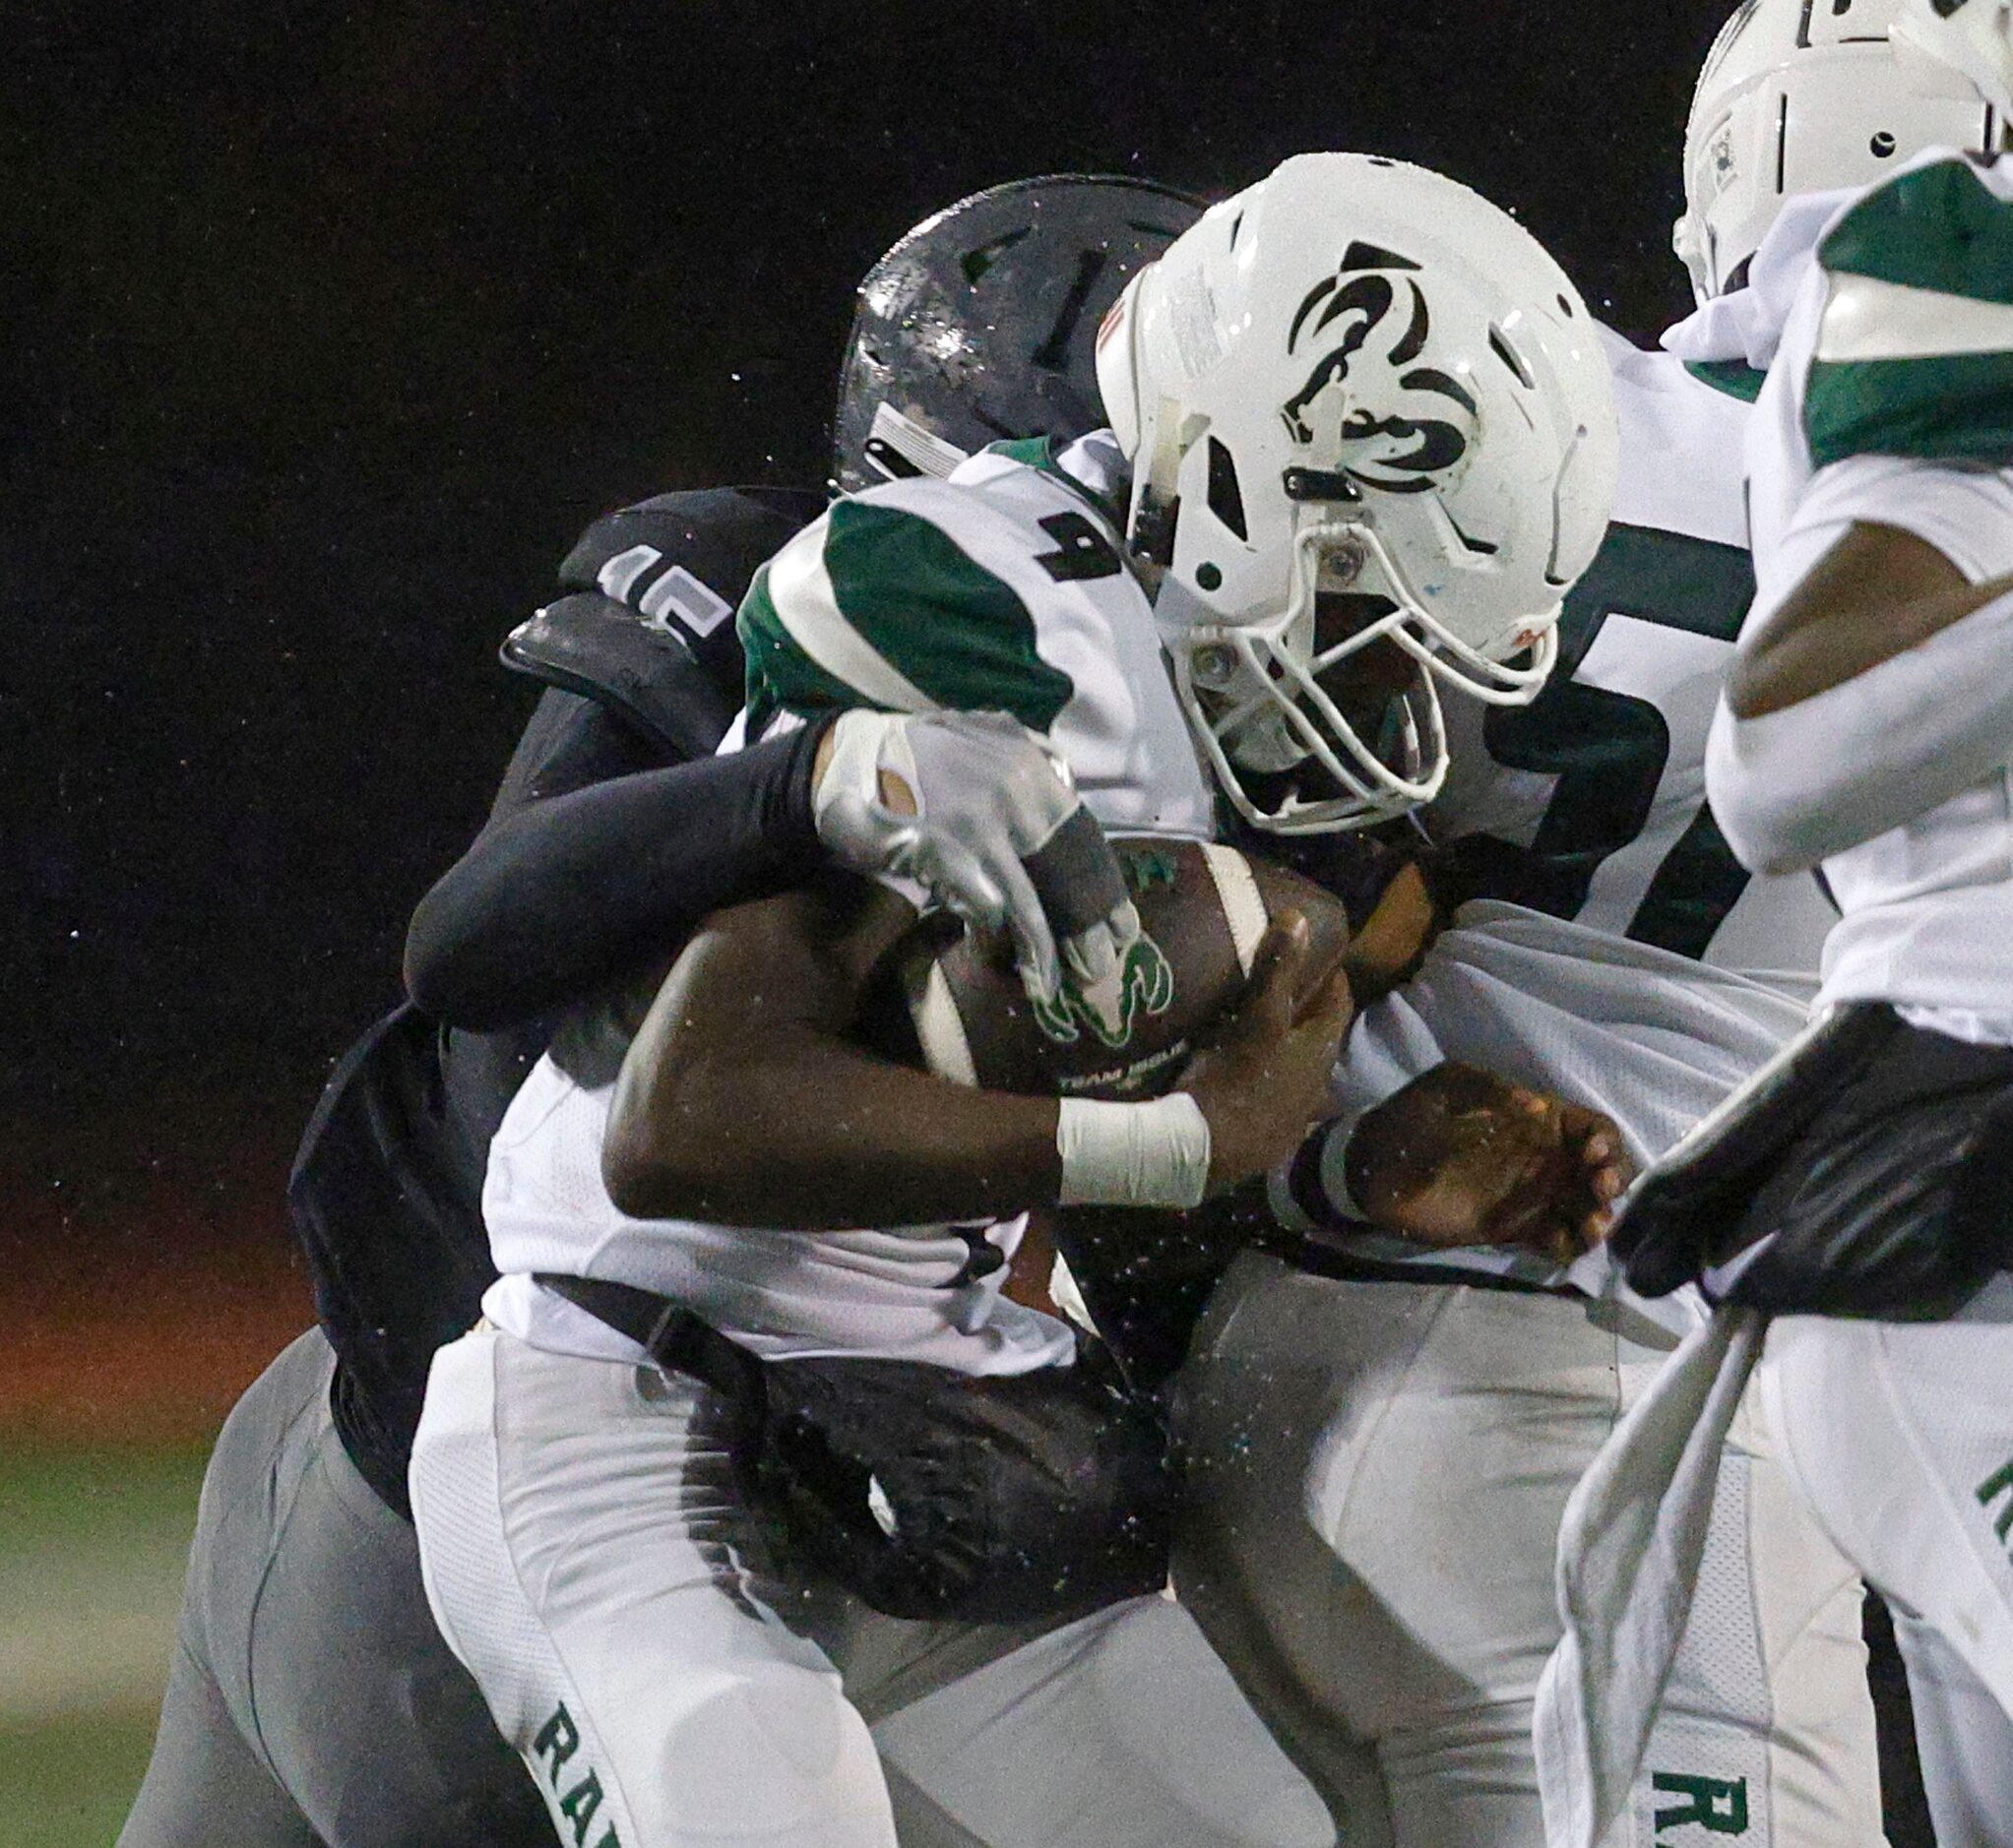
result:
[[[493,1033],[676,948],[707,912],[795,884],[821,854],[823,729],[666,767],[606,711],[548,692],[489,825],[413,914],[413,1000]]]

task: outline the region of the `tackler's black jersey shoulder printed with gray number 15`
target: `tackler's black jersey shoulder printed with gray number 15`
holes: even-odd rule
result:
[[[566,590],[598,590],[680,636],[723,697],[741,705],[733,614],[763,560],[825,511],[793,487],[703,487],[606,513],[560,566]]]

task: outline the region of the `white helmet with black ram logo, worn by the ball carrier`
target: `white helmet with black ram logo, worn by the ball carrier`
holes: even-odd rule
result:
[[[1566,274],[1401,161],[1286,161],[1099,330],[1125,537],[1236,809],[1327,833],[1427,801],[1439,682],[1532,699],[1614,491],[1608,364]]]

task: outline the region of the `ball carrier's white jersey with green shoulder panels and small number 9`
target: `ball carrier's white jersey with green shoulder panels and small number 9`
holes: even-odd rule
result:
[[[1119,562],[1097,487],[1115,459],[1079,443],[976,455],[950,481],[845,497],[763,570],[741,608],[749,709],[763,737],[831,707],[1006,711],[1061,747],[1113,833],[1214,831],[1210,785],[1162,662],[1153,614]],[[535,1272],[614,1278],[690,1304],[759,1355],[876,1355],[1021,1373],[1069,1331],[1000,1294],[1025,1220],[860,1232],[749,1232],[634,1220],[608,1198],[612,1087],[548,1055],[489,1153],[483,1218],[503,1280],[485,1311],[566,1353],[632,1343],[537,1288]]]

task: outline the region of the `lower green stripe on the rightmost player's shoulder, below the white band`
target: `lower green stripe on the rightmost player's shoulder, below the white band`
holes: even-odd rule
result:
[[[1848,455],[2013,463],[2013,352],[1816,360],[1804,387],[1812,467]]]

